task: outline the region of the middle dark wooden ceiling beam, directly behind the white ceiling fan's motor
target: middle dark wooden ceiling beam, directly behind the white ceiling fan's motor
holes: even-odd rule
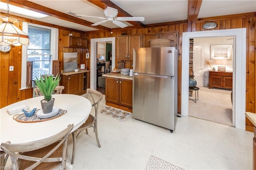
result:
[[[126,12],[125,10],[123,10],[122,8],[120,8],[119,6],[117,6],[116,4],[111,2],[110,0],[87,0],[87,1],[104,9],[104,10],[107,7],[115,8],[118,10],[117,16],[119,16],[119,17],[120,16],[121,17],[132,17],[128,12]],[[136,28],[144,28],[145,27],[145,25],[139,21],[126,21],[126,22],[129,22],[130,24],[134,25],[134,27],[136,27]]]

